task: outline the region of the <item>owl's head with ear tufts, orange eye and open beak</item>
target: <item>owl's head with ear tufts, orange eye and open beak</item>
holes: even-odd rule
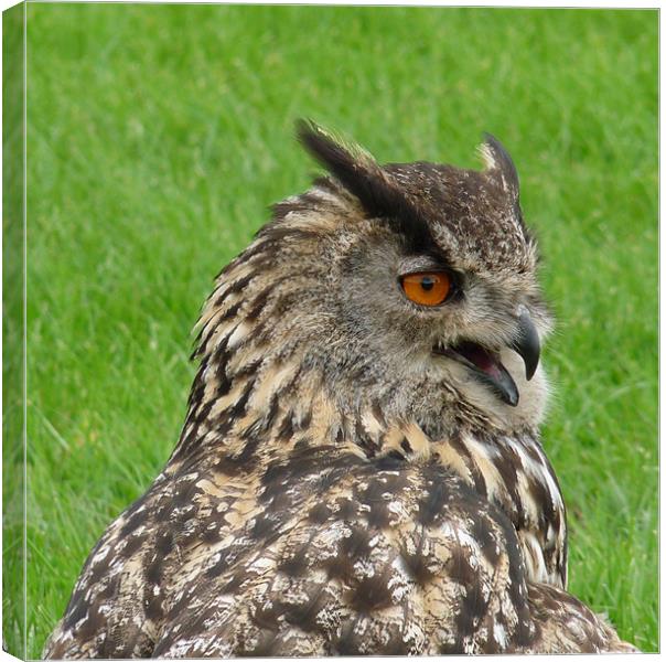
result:
[[[271,374],[278,391],[307,382],[345,416],[372,410],[431,435],[461,421],[537,426],[550,318],[502,145],[486,136],[475,171],[379,164],[309,121],[298,137],[327,175],[275,205],[221,274],[202,318],[204,363],[229,380]]]

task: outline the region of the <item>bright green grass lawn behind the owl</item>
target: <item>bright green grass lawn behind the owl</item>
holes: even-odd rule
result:
[[[476,167],[483,130],[511,150],[559,319],[545,445],[570,588],[657,650],[657,26],[656,11],[29,6],[28,655],[176,441],[214,275],[307,186],[299,116],[380,160]],[[14,652],[19,588],[6,568]]]

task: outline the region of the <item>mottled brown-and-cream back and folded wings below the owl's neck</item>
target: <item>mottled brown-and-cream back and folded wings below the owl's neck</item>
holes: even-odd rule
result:
[[[509,520],[439,466],[318,447],[155,485],[90,554],[46,656],[623,650],[527,583]]]

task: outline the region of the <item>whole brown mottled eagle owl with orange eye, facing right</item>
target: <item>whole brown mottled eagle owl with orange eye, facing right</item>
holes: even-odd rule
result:
[[[634,650],[567,592],[511,157],[380,166],[298,134],[329,174],[217,277],[180,440],[45,656]]]

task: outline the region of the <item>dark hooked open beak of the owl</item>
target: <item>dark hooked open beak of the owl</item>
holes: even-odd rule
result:
[[[526,308],[520,310],[517,321],[516,340],[509,346],[523,359],[525,377],[529,381],[539,365],[539,334]],[[453,348],[436,348],[434,351],[466,365],[472,374],[488,386],[502,402],[512,407],[518,404],[518,387],[500,361],[498,352],[468,341]]]

